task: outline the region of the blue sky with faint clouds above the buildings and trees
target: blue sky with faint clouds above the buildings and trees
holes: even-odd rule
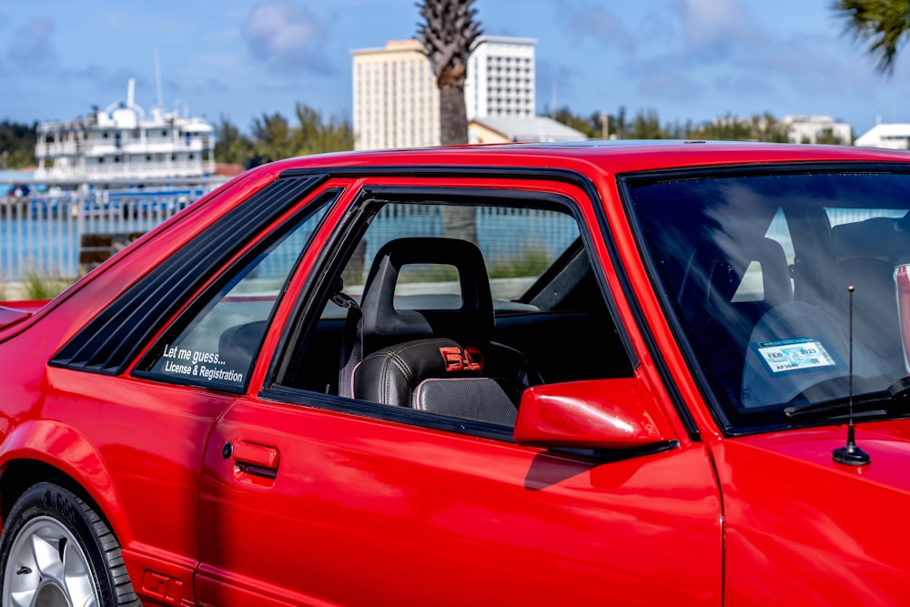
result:
[[[875,72],[830,0],[477,0],[484,33],[537,40],[537,107],[662,122],[825,114],[855,135],[910,122],[910,54]],[[157,97],[248,131],[296,102],[350,116],[351,56],[417,29],[414,0],[0,0],[0,120]]]

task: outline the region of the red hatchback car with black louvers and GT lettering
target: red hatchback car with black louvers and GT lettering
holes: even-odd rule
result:
[[[906,604],[908,161],[258,167],[0,309],[3,605]]]

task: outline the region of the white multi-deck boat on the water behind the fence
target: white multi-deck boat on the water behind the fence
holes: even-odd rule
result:
[[[53,181],[209,177],[215,174],[215,129],[202,118],[126,103],[69,122],[37,126],[35,179]]]

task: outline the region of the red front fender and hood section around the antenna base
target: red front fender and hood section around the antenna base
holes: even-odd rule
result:
[[[895,521],[910,507],[901,464],[910,441],[900,436],[908,429],[910,420],[861,426],[856,440],[872,458],[864,467],[832,460],[844,427],[718,443],[727,601],[763,604],[784,593],[797,604],[903,602],[910,532]]]

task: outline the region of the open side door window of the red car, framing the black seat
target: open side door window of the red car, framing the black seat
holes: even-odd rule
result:
[[[631,375],[570,207],[428,197],[373,202],[280,384],[510,425],[530,385]]]

